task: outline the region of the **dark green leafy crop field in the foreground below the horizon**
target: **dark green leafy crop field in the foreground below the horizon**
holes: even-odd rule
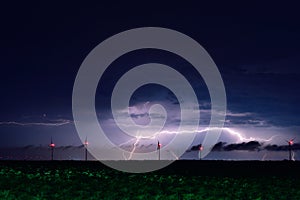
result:
[[[0,199],[300,199],[285,176],[128,174],[95,162],[1,162]]]

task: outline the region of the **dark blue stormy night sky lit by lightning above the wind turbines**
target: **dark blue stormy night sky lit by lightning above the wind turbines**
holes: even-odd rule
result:
[[[1,6],[0,148],[80,145],[72,116],[72,91],[85,57],[103,40],[139,27],[164,27],[199,42],[216,63],[227,94],[227,116],[220,141],[257,140],[286,145],[300,141],[300,14],[296,5],[80,4],[19,3]],[[101,59],[101,58],[100,58]],[[110,111],[116,81],[134,66],[172,66],[193,86],[201,120],[200,144],[210,119],[207,87],[193,67],[173,53],[144,49],[113,62],[96,94],[98,120],[120,145]],[[178,125],[178,100],[165,87],[146,85],[130,100],[131,117],[147,124],[150,105],[164,105],[165,131]],[[121,115],[122,112],[120,111]],[[272,137],[274,136],[274,137]],[[162,137],[164,143],[172,134]],[[148,141],[152,145],[156,140]],[[126,145],[129,145],[127,147]],[[129,148],[127,143],[122,148]],[[145,149],[140,146],[139,151]]]

